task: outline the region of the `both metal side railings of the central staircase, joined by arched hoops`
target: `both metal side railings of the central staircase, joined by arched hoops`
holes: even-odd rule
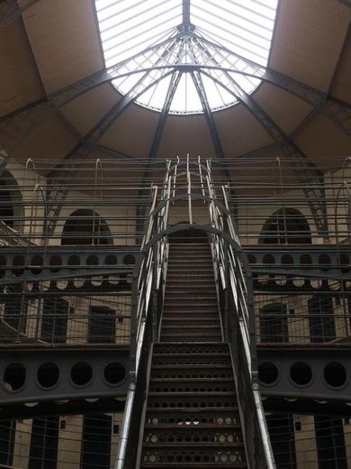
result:
[[[222,188],[222,201],[219,200],[212,187],[210,161],[202,165],[200,158],[197,163],[187,158],[185,162],[178,160],[174,165],[167,161],[163,187],[152,187],[151,191],[153,198],[148,224],[134,271],[130,389],[115,468],[138,467],[150,355],[152,344],[158,340],[163,280],[166,279],[167,236],[176,231],[197,228],[210,234],[217,280],[220,282],[219,293],[224,292],[226,299],[224,311],[220,311],[223,339],[229,341],[234,365],[247,460],[252,469],[274,469],[274,456],[257,384],[252,281],[247,259],[231,220],[226,189]],[[188,223],[172,225],[169,220],[173,207],[184,202]],[[206,220],[203,220],[202,213],[202,223],[195,223],[195,206],[205,208]]]

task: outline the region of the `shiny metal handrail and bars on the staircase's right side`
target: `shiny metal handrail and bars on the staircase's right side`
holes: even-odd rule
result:
[[[211,198],[211,204],[209,205],[209,216],[211,225],[221,232],[227,231],[231,239],[241,247],[238,237],[238,230],[236,224],[230,215],[229,201],[227,196],[228,186],[222,186],[222,198],[223,205],[226,210],[220,210],[220,204],[216,204],[217,200],[216,192],[213,189],[211,183],[211,163],[207,163],[207,188],[209,192],[209,198]],[[244,352],[244,362],[246,363],[246,372],[243,376],[238,376],[237,370],[237,389],[238,384],[241,382],[241,386],[245,389],[243,391],[247,393],[252,391],[252,404],[253,411],[255,412],[254,418],[254,428],[252,429],[253,439],[259,438],[262,446],[258,443],[258,449],[262,448],[264,455],[259,455],[259,451],[255,451],[255,455],[251,457],[251,464],[255,469],[263,469],[263,464],[266,464],[266,469],[275,469],[275,458],[272,451],[272,446],[269,439],[268,429],[266,427],[266,418],[265,412],[262,406],[261,396],[259,393],[258,386],[258,373],[257,373],[257,350],[256,350],[256,341],[255,341],[255,317],[253,307],[253,289],[252,289],[252,278],[251,272],[247,269],[248,263],[245,266],[245,273],[242,267],[242,259],[245,255],[241,249],[241,252],[236,252],[233,250],[232,246],[229,245],[223,237],[218,234],[214,234],[213,238],[213,254],[214,262],[219,269],[219,277],[222,284],[223,290],[230,292],[232,298],[232,303],[234,308],[229,308],[227,304],[225,309],[226,313],[230,315],[230,311],[233,312],[234,316],[238,318],[238,336],[241,339],[241,344],[243,345]],[[247,286],[248,285],[248,286]],[[228,298],[228,297],[227,297]],[[233,344],[235,339],[230,336],[230,317],[224,321],[224,333],[225,338],[229,341],[229,346],[231,349],[231,354],[234,363],[233,352],[238,348],[238,344]],[[238,340],[238,338],[237,338]],[[235,346],[237,345],[237,347]],[[249,383],[249,385],[248,385]],[[238,389],[238,393],[240,390]],[[249,401],[249,396],[243,396],[244,399]],[[245,421],[247,413],[245,409],[240,409],[242,420]],[[251,422],[248,423],[248,425]],[[252,445],[251,442],[247,444]],[[254,442],[255,443],[255,442]],[[247,459],[250,461],[250,455],[247,455]]]

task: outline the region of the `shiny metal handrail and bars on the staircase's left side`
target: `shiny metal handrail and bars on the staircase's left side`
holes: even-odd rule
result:
[[[131,468],[126,459],[130,456],[128,455],[130,428],[135,423],[132,421],[132,411],[138,400],[139,409],[142,409],[143,396],[140,396],[140,394],[143,392],[142,386],[146,386],[147,382],[146,370],[145,368],[140,368],[140,363],[143,363],[145,366],[148,363],[150,350],[150,342],[147,342],[149,336],[147,328],[150,328],[147,324],[148,312],[151,308],[151,303],[155,303],[151,299],[157,295],[157,291],[160,290],[162,285],[163,277],[166,275],[166,239],[162,237],[156,244],[151,247],[147,246],[150,239],[155,234],[163,232],[168,225],[169,200],[171,198],[173,179],[170,173],[170,165],[171,161],[166,161],[166,176],[162,190],[156,185],[151,185],[152,201],[148,212],[145,234],[141,243],[139,259],[133,271],[132,314],[130,318],[130,382],[121,426],[119,448],[114,465],[115,469]],[[166,201],[166,204],[159,211],[155,210],[158,198],[160,202]],[[155,304],[152,307],[155,307]],[[149,320],[148,323],[150,323]],[[153,338],[155,338],[155,335],[156,331],[153,331]],[[144,379],[139,380],[139,383],[137,383],[137,378],[140,374],[143,375]],[[137,431],[135,433],[138,434]],[[134,451],[136,451],[138,446],[138,435],[135,439]],[[131,460],[136,460],[136,458],[136,454],[130,457]]]

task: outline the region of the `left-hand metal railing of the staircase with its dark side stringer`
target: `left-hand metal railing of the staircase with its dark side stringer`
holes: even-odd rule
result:
[[[139,259],[133,274],[130,321],[130,384],[121,428],[120,446],[115,468],[135,468],[138,459],[140,419],[142,421],[145,391],[148,386],[149,357],[152,343],[157,341],[158,325],[162,308],[164,281],[166,279],[166,238],[151,243],[153,236],[166,231],[172,193],[169,175],[170,161],[166,163],[163,189],[151,187],[152,203],[141,244]],[[160,196],[158,196],[160,194]],[[157,197],[163,204],[159,211]]]

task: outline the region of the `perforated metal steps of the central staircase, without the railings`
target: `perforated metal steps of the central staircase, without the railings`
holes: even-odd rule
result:
[[[247,467],[210,244],[170,244],[140,467]]]

